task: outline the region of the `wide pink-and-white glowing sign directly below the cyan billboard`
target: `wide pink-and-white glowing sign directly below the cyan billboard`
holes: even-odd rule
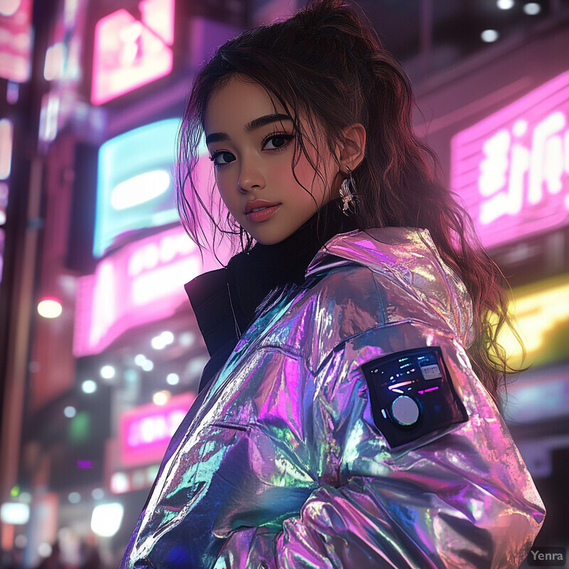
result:
[[[212,255],[202,262],[182,228],[125,245],[78,280],[73,353],[100,353],[125,331],[171,316],[188,302],[184,284],[214,268],[218,262]]]

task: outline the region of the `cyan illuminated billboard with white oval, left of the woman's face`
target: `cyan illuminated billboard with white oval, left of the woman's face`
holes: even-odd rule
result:
[[[178,220],[172,179],[178,125],[179,119],[154,122],[100,147],[95,257],[124,243],[126,233]]]

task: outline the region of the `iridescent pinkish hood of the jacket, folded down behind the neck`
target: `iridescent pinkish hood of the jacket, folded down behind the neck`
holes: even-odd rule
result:
[[[472,344],[472,301],[462,280],[443,262],[429,230],[389,227],[340,233],[319,250],[306,275],[351,263],[388,275],[444,319],[463,346]]]

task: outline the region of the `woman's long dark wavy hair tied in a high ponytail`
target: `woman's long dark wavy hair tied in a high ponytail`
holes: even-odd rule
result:
[[[179,136],[178,206],[182,223],[199,245],[208,236],[199,211],[211,220],[213,243],[223,235],[252,242],[227,211],[214,207],[213,191],[198,192],[195,171],[208,98],[233,75],[245,75],[278,102],[294,124],[294,165],[314,154],[317,129],[328,149],[342,129],[361,123],[366,156],[353,172],[360,198],[356,223],[430,231],[443,260],[462,278],[474,307],[476,339],[469,348],[479,378],[499,404],[511,373],[497,336],[511,326],[507,285],[482,250],[472,220],[441,183],[436,156],[413,133],[413,91],[408,76],[379,40],[368,19],[344,0],[313,0],[292,18],[241,33],[221,46],[193,81]],[[307,119],[304,132],[299,117]],[[310,160],[310,159],[309,159]],[[312,163],[319,169],[319,159]],[[211,245],[211,243],[210,243]],[[515,333],[515,331],[514,331]]]

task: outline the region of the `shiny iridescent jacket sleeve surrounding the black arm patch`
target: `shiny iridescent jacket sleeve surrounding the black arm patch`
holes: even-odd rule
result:
[[[392,448],[374,421],[362,366],[434,346],[467,420]],[[319,487],[282,531],[234,531],[216,569],[519,567],[543,504],[449,330],[412,319],[378,326],[336,346],[313,379]]]

